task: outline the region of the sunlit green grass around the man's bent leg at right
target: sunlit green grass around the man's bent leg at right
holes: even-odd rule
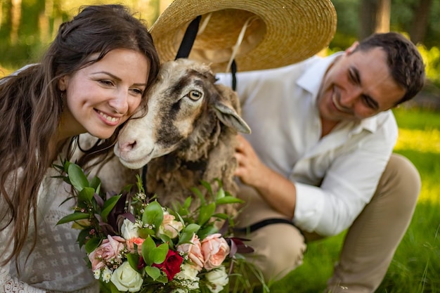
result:
[[[422,191],[413,220],[376,292],[440,292],[440,113],[398,108],[395,152],[420,171]],[[311,242],[304,264],[270,286],[271,293],[319,293],[332,274],[344,233]]]

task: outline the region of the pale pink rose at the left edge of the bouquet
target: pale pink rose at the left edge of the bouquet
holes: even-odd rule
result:
[[[93,271],[103,268],[111,260],[122,263],[120,253],[124,250],[124,238],[110,235],[107,238],[89,254]]]

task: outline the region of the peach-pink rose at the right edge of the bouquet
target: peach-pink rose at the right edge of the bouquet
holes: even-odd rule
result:
[[[220,233],[208,235],[202,240],[202,254],[205,258],[205,268],[209,271],[218,268],[229,254],[229,245]]]

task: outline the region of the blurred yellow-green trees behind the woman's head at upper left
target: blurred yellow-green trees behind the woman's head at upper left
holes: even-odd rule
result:
[[[162,3],[163,2],[163,3]],[[148,26],[171,0],[0,0],[0,65],[16,69],[39,60],[60,24],[83,5],[121,3]],[[1,72],[0,72],[1,73]],[[1,74],[0,74],[1,76]]]

